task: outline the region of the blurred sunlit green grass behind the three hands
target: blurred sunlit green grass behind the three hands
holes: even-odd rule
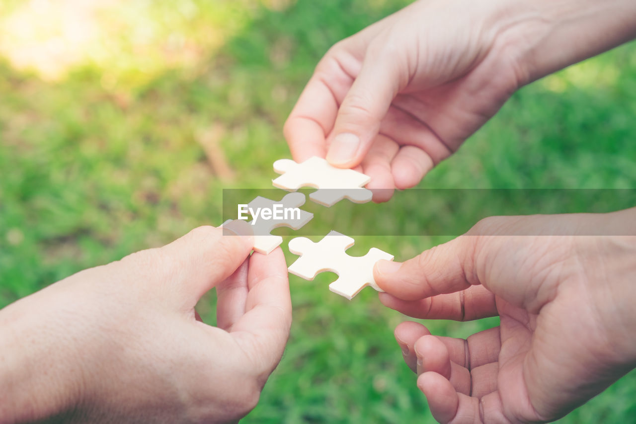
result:
[[[222,188],[270,188],[273,160],[289,157],[282,124],[322,54],[405,3],[127,2],[100,15],[106,35],[58,78],[1,62],[0,307],[218,225]],[[7,2],[2,22],[20,4]],[[635,53],[623,46],[523,88],[422,187],[635,188]],[[436,213],[426,199],[422,209]],[[376,246],[404,260],[447,238],[357,237],[350,253]],[[332,277],[291,276],[291,339],[245,422],[432,422],[392,337],[403,316],[372,291],[333,295]],[[206,322],[214,302],[200,302]],[[427,325],[466,337],[497,320]],[[563,422],[633,422],[634,399],[632,373]]]

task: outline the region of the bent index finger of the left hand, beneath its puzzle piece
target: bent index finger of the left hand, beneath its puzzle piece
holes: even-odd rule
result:
[[[252,254],[247,284],[246,312],[231,334],[243,343],[256,369],[269,373],[282,357],[291,326],[287,265],[280,248],[269,255]]]

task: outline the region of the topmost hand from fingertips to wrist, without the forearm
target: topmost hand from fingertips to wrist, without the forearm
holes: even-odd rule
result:
[[[286,122],[294,159],[361,164],[374,201],[416,185],[519,86],[481,3],[417,1],[333,46]]]

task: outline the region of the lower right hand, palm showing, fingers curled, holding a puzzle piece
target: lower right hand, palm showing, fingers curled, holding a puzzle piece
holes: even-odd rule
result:
[[[551,421],[633,369],[635,222],[636,208],[488,218],[403,264],[379,262],[386,306],[415,318],[501,318],[466,340],[415,322],[396,328],[434,418]],[[581,229],[632,236],[576,236]]]

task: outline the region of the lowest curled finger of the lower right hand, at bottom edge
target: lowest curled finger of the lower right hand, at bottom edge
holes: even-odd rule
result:
[[[439,423],[481,422],[479,400],[457,393],[450,381],[437,372],[424,372],[418,377],[417,386],[426,396],[431,414]]]

